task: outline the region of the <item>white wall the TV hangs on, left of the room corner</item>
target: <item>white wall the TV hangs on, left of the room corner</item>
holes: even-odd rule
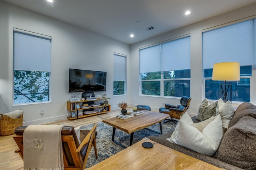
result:
[[[0,113],[22,109],[24,125],[66,119],[68,115],[66,101],[74,95],[68,93],[69,68],[106,71],[107,90],[95,94],[107,94],[107,97],[111,98],[109,103],[112,109],[117,109],[120,101],[130,103],[130,95],[113,97],[113,54],[116,52],[127,55],[127,71],[130,73],[130,45],[6,2],[0,1],[0,4],[0,97],[4,102],[0,100]],[[52,102],[50,103],[12,106],[14,27],[52,37]],[[130,74],[127,75],[127,79],[130,79]],[[130,94],[129,84],[127,92]],[[81,94],[78,97],[81,98]],[[40,110],[44,110],[44,115],[40,115]]]

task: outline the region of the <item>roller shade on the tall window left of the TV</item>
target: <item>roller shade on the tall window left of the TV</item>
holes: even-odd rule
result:
[[[14,70],[51,70],[51,39],[14,31]]]

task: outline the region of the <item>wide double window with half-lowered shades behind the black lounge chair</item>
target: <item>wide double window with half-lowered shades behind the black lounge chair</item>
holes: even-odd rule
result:
[[[190,37],[141,49],[140,81],[142,95],[190,96]]]

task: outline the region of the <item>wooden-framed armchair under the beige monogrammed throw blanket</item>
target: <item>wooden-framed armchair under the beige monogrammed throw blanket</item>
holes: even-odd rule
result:
[[[61,131],[61,140],[63,147],[63,158],[64,158],[64,169],[65,170],[83,170],[86,167],[90,150],[94,147],[96,159],[97,148],[96,148],[96,131],[97,124],[90,131],[80,131],[80,136],[86,135],[81,144],[79,144],[76,137],[74,127],[64,126]],[[15,152],[19,153],[23,159],[23,132],[26,127],[18,127],[14,132],[16,134],[14,138],[19,149]]]

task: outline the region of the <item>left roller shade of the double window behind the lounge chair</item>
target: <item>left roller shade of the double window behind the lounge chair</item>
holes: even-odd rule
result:
[[[161,71],[161,46],[140,50],[140,73]]]

